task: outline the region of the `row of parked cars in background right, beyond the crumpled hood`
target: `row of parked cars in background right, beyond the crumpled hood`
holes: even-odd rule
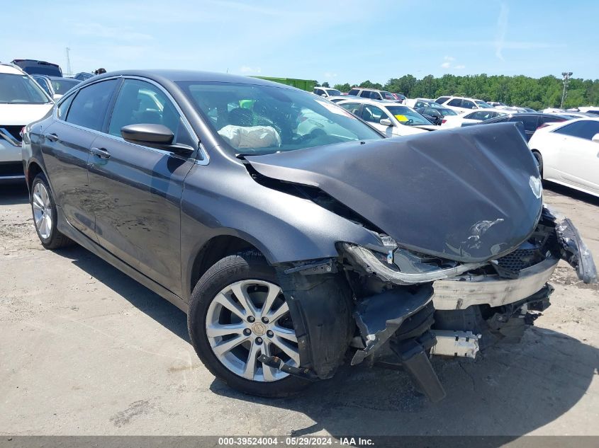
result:
[[[326,90],[326,95],[320,91]],[[599,196],[599,108],[581,110],[510,107],[476,98],[441,96],[403,98],[369,88],[354,88],[347,95],[331,88],[313,93],[369,122],[387,137],[472,125],[517,122],[529,142],[542,178]]]

